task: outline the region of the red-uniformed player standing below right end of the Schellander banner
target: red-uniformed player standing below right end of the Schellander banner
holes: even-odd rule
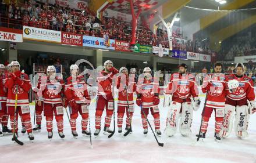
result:
[[[64,138],[63,133],[63,103],[65,83],[61,77],[56,75],[54,66],[47,67],[47,77],[42,77],[38,93],[38,106],[44,102],[44,116],[48,139],[52,139],[52,121],[56,119],[59,136]]]

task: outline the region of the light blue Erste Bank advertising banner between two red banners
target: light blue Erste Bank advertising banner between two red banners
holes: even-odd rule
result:
[[[103,38],[83,35],[83,46],[99,49],[115,50],[115,39],[109,39],[111,46],[106,46]]]

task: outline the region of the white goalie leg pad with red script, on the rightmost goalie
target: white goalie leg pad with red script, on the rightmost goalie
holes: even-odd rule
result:
[[[219,132],[220,136],[227,137],[232,132],[235,109],[236,107],[229,104],[225,104],[224,118],[222,122],[221,132]]]

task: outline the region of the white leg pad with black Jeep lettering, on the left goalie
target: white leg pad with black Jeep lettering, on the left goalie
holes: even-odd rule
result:
[[[182,103],[182,116],[180,118],[180,133],[183,136],[191,134],[191,125],[193,121],[193,106],[191,102]]]

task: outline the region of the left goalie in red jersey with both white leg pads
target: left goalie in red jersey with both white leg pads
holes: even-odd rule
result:
[[[198,110],[200,99],[194,75],[187,74],[186,64],[180,64],[179,73],[172,74],[165,93],[164,106],[169,108],[166,119],[166,135],[175,135],[177,121],[181,115],[179,122],[180,133],[182,136],[189,136],[191,133],[193,109],[194,111]],[[191,97],[194,103],[191,102]]]

